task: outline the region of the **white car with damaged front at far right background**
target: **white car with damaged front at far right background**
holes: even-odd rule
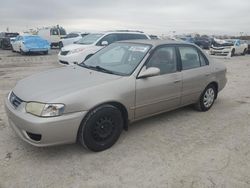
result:
[[[214,39],[210,48],[211,55],[228,55],[234,56],[236,54],[245,55],[247,53],[248,45],[240,39],[220,40]]]

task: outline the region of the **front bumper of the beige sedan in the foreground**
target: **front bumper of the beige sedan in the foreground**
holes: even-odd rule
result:
[[[52,146],[74,143],[78,128],[87,111],[64,114],[58,117],[37,117],[26,113],[24,104],[15,109],[9,100],[5,99],[5,110],[10,126],[24,141],[34,146]],[[36,141],[31,135],[40,135]]]

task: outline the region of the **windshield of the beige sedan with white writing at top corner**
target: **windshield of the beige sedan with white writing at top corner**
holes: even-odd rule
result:
[[[146,44],[113,43],[79,65],[110,74],[130,75],[150,48]]]

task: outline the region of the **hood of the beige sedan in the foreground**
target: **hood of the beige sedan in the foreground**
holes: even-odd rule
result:
[[[116,80],[121,76],[70,66],[35,74],[19,81],[13,92],[24,101],[53,102],[80,90]]]

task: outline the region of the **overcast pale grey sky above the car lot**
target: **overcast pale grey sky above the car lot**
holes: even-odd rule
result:
[[[250,0],[0,0],[0,31],[57,24],[67,32],[250,35]]]

